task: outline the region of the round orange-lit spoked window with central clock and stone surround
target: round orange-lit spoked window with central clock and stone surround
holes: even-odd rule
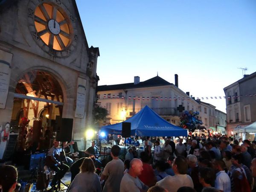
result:
[[[68,56],[76,46],[75,18],[61,1],[30,0],[29,29],[38,45],[48,54]]]

